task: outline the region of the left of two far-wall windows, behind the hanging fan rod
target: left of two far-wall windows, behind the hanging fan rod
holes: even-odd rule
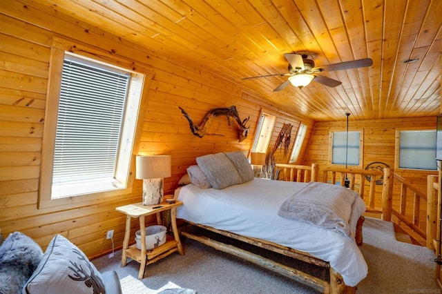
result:
[[[358,166],[361,154],[360,145],[360,132],[348,132],[348,145],[347,132],[334,132],[332,134],[332,164]]]

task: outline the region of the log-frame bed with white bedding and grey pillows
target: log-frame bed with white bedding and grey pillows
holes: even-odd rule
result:
[[[365,204],[361,197],[355,197],[352,204],[349,204],[351,213],[345,233],[335,227],[325,228],[283,217],[280,214],[283,204],[315,183],[260,179],[253,177],[253,174],[251,177],[244,176],[245,173],[249,173],[248,168],[250,168],[244,155],[242,153],[224,155],[231,157],[231,162],[227,162],[227,166],[233,164],[238,170],[240,179],[236,182],[239,183],[232,184],[235,183],[233,179],[227,180],[228,184],[224,183],[224,186],[218,186],[219,183],[216,183],[216,177],[224,175],[230,177],[234,174],[231,166],[230,169],[226,169],[224,162],[227,160],[224,158],[226,156],[218,153],[215,155],[217,158],[208,160],[198,157],[198,165],[188,169],[189,179],[192,179],[190,182],[193,184],[183,183],[186,185],[175,190],[175,198],[184,203],[177,210],[177,218],[204,230],[294,257],[309,264],[329,268],[329,281],[309,273],[302,273],[226,242],[219,242],[204,234],[182,230],[182,235],[291,277],[318,291],[325,293],[355,291],[355,286],[367,275],[367,264],[355,241],[355,239],[358,239],[358,242],[362,241],[359,234],[361,234]],[[207,156],[214,155],[205,157]],[[195,170],[198,173],[195,173]],[[336,187],[336,185],[320,184],[327,188]]]

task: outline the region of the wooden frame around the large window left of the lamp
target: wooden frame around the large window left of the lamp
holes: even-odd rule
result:
[[[57,128],[57,112],[59,107],[61,70],[65,52],[73,52],[75,55],[91,59],[94,62],[102,62],[137,74],[137,78],[135,78],[135,81],[137,81],[135,84],[137,85],[134,85],[131,91],[135,91],[135,95],[140,95],[140,103],[138,108],[134,110],[134,113],[136,112],[137,120],[134,126],[135,133],[133,134],[132,146],[127,146],[127,148],[131,148],[131,151],[129,151],[131,152],[131,155],[129,156],[130,158],[117,159],[117,166],[126,166],[127,169],[117,168],[120,172],[116,177],[125,177],[126,183],[121,187],[116,186],[111,190],[52,199],[52,166]],[[122,57],[117,57],[110,52],[97,50],[96,48],[86,46],[82,43],[68,41],[58,37],[52,38],[37,208],[64,210],[67,208],[90,206],[102,203],[111,197],[132,193],[133,179],[135,176],[135,155],[138,153],[138,144],[136,144],[136,142],[140,141],[142,133],[147,104],[148,84],[151,81],[152,76],[153,72],[150,68],[135,64],[133,61],[129,61]]]

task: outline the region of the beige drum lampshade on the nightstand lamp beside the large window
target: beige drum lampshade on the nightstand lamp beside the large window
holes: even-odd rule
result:
[[[158,179],[171,176],[171,155],[138,155],[137,179]]]

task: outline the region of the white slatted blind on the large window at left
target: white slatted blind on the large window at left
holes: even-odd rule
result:
[[[53,185],[113,178],[130,74],[66,55]]]

